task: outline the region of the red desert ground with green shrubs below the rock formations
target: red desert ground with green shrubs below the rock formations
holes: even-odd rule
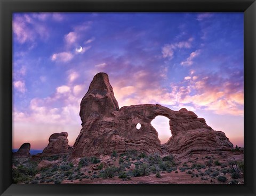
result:
[[[25,184],[243,184],[243,148],[230,151],[83,157],[13,157],[13,183]]]

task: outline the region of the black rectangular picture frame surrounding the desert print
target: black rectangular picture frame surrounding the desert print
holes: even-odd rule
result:
[[[1,195],[255,195],[255,0],[0,0]],[[244,184],[12,184],[13,12],[243,12]]]

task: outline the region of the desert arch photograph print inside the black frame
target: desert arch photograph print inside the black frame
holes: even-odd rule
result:
[[[242,12],[12,16],[13,183],[244,183]]]

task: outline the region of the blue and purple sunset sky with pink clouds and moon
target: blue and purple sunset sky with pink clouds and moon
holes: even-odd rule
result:
[[[81,131],[93,76],[109,75],[119,108],[187,108],[244,145],[243,13],[14,13],[13,148],[44,149]],[[151,123],[162,143],[168,119]]]

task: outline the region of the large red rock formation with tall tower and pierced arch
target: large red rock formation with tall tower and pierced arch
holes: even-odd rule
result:
[[[158,115],[170,119],[172,137],[163,145],[150,124]],[[106,73],[94,76],[82,99],[80,116],[82,130],[74,144],[71,158],[109,155],[114,150],[188,154],[191,151],[233,147],[225,133],[212,130],[204,118],[198,118],[194,112],[185,108],[174,111],[158,104],[143,104],[118,109]],[[136,128],[138,123],[141,124],[139,130]]]

